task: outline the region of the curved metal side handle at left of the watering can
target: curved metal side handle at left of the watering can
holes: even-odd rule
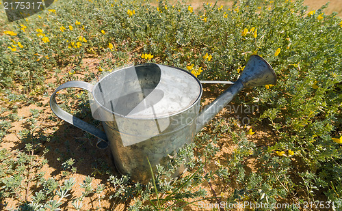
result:
[[[107,148],[109,145],[107,136],[105,135],[105,132],[99,130],[95,126],[92,126],[91,124],[88,124],[81,119],[74,117],[70,113],[67,113],[61,107],[57,104],[56,102],[56,94],[58,91],[62,89],[66,89],[68,87],[76,87],[76,88],[81,88],[81,89],[86,89],[88,92],[92,92],[92,87],[90,83],[86,83],[84,81],[68,81],[55,90],[53,92],[51,98],[50,98],[50,107],[53,113],[57,115],[57,117],[60,117],[60,119],[63,119],[64,121],[72,124],[73,126],[77,126],[77,128],[80,128],[81,130],[84,130],[86,132],[89,132],[91,135],[94,135],[95,137],[98,137],[98,139],[101,139],[97,142],[97,147],[101,149]]]

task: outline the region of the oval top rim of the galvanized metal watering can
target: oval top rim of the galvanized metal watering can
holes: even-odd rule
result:
[[[94,101],[96,102],[96,104],[100,105],[100,107],[101,107],[102,109],[104,109],[105,111],[107,111],[107,112],[109,112],[109,113],[111,113],[111,114],[113,114],[113,115],[116,115],[116,116],[119,116],[119,117],[123,117],[123,118],[125,118],[125,119],[144,119],[144,120],[146,120],[146,119],[163,119],[163,118],[167,118],[167,117],[172,117],[172,116],[174,116],[174,115],[178,115],[178,114],[183,113],[183,112],[185,112],[185,111],[187,111],[187,110],[189,110],[189,109],[192,109],[192,107],[194,107],[194,106],[196,105],[196,103],[198,102],[198,100],[200,100],[200,99],[202,98],[202,93],[203,93],[202,83],[200,83],[200,80],[198,80],[197,77],[194,76],[194,74],[192,74],[191,72],[189,72],[189,71],[187,71],[187,70],[184,70],[184,69],[182,69],[182,68],[178,68],[178,67],[174,67],[174,66],[169,66],[169,65],[164,65],[164,64],[155,64],[155,65],[157,65],[157,66],[166,66],[166,67],[169,67],[169,68],[174,68],[174,69],[176,69],[176,70],[181,70],[181,71],[183,71],[183,72],[186,72],[187,74],[189,74],[190,76],[192,76],[192,77],[196,80],[196,82],[198,83],[198,85],[200,86],[200,93],[198,94],[196,100],[194,100],[194,102],[193,102],[189,107],[186,107],[185,109],[183,109],[183,110],[181,110],[181,111],[178,111],[178,112],[175,112],[175,113],[172,113],[172,114],[168,114],[168,115],[159,115],[159,116],[157,116],[157,117],[146,117],[146,116],[142,116],[142,117],[134,116],[134,117],[131,117],[131,116],[129,116],[129,115],[122,115],[122,114],[120,114],[120,113],[116,113],[116,112],[114,112],[114,111],[111,111],[111,110],[107,109],[106,107],[103,106],[103,104],[101,104],[100,102],[98,102],[98,100],[96,100],[96,98],[94,97],[94,93],[93,93],[93,92],[94,92],[94,87],[98,86],[98,84],[99,84],[103,79],[105,79],[107,76],[109,76],[110,74],[113,74],[114,72],[118,72],[118,71],[123,71],[123,70],[125,70],[125,69],[127,69],[127,68],[137,67],[137,66],[143,66],[143,65],[149,65],[149,64],[155,64],[155,63],[150,63],[150,62],[148,62],[148,63],[137,64],[137,65],[133,65],[133,66],[127,66],[127,67],[120,68],[120,69],[118,69],[118,70],[115,70],[115,71],[113,71],[113,72],[111,72],[111,73],[105,75],[102,79],[100,79],[100,81],[96,82],[96,83],[94,84],[93,88],[92,88],[92,92],[91,92],[91,93],[92,93],[92,97],[94,98]]]

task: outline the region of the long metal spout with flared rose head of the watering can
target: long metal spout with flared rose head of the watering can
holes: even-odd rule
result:
[[[196,120],[196,133],[217,115],[226,105],[233,100],[241,89],[262,85],[275,85],[276,73],[265,59],[258,55],[252,55],[248,60],[239,79],[211,104],[202,110]]]

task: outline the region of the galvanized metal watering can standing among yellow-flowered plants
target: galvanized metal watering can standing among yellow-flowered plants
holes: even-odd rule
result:
[[[200,111],[202,83],[231,83],[226,91]],[[199,81],[181,68],[140,64],[110,72],[96,83],[68,81],[50,98],[57,117],[98,137],[97,146],[109,145],[116,168],[133,182],[146,183],[150,166],[166,165],[244,87],[276,84],[276,74],[265,59],[252,55],[233,82]],[[67,87],[86,89],[92,116],[105,132],[62,110],[55,99]],[[150,164],[148,163],[150,162]],[[179,168],[175,175],[184,169]]]

